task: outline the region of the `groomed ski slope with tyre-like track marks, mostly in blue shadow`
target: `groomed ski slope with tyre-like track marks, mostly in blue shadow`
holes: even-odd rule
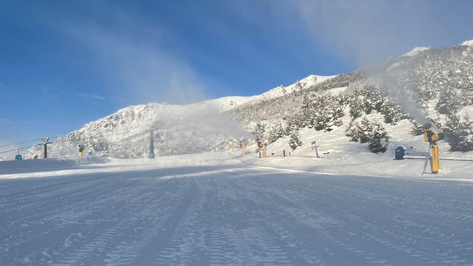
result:
[[[473,265],[472,182],[238,156],[0,168],[0,265]]]

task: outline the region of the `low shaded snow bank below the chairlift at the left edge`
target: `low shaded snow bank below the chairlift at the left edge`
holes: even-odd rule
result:
[[[64,168],[76,165],[106,163],[107,158],[98,156],[81,156],[70,158],[46,158],[31,160],[0,161],[0,174],[18,172],[35,172],[38,168]]]

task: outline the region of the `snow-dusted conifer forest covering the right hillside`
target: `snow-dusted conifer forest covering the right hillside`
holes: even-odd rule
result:
[[[368,142],[373,152],[384,151],[389,141],[383,124],[409,119],[414,136],[423,133],[421,123],[431,121],[441,128],[441,138],[451,151],[465,152],[473,150],[473,121],[460,111],[472,106],[472,100],[473,47],[459,45],[389,58],[279,98],[250,101],[229,112],[269,142],[291,136],[290,142],[297,143],[303,127],[331,131],[345,126],[347,140]],[[374,112],[383,120],[368,121],[365,115]],[[342,124],[344,115],[350,115],[350,124]]]

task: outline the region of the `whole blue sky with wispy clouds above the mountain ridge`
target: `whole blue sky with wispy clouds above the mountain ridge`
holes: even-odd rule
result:
[[[471,1],[7,1],[0,144],[473,39]]]

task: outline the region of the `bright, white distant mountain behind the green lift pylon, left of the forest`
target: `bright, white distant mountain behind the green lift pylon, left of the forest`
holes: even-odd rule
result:
[[[50,144],[50,157],[73,156],[77,144],[85,144],[95,153],[116,158],[141,158],[149,153],[149,126],[154,126],[155,152],[158,156],[219,151],[227,147],[228,140],[241,136],[253,137],[231,121],[229,110],[248,102],[261,102],[278,98],[301,89],[307,89],[334,76],[311,75],[285,89],[276,87],[260,95],[231,96],[206,100],[189,105],[149,103],[128,106],[112,115],[85,124],[60,140],[80,140]],[[231,130],[230,130],[231,129]],[[235,133],[236,132],[236,133]],[[159,137],[158,137],[159,136]],[[41,154],[41,147],[23,152],[26,158]]]

